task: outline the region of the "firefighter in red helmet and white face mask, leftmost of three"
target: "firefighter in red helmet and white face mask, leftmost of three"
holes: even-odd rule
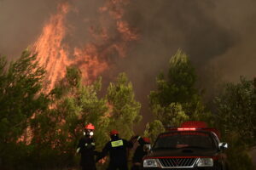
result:
[[[96,151],[93,139],[95,127],[89,123],[84,127],[84,136],[79,140],[77,153],[81,154],[80,166],[83,170],[96,170]]]

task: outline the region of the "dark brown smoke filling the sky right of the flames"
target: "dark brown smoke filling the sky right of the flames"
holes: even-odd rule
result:
[[[166,71],[177,48],[192,59],[207,98],[215,93],[218,81],[237,81],[240,75],[256,73],[256,1],[253,0],[140,0],[132,3],[126,17],[141,31],[141,41],[130,56],[120,60],[138,98],[154,88],[155,77]],[[148,102],[148,101],[147,101]],[[143,114],[148,121],[148,103]],[[150,119],[150,118],[149,118]]]

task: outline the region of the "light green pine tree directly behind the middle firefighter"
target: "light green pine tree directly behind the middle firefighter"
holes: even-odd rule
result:
[[[135,100],[131,82],[125,73],[120,73],[115,83],[111,82],[107,93],[108,105],[111,108],[110,127],[119,131],[123,138],[131,138],[133,125],[141,120],[141,105]]]

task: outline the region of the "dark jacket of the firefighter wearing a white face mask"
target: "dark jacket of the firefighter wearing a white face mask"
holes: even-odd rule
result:
[[[83,136],[79,140],[78,149],[81,154],[80,165],[82,167],[91,167],[90,169],[96,169],[94,139]]]

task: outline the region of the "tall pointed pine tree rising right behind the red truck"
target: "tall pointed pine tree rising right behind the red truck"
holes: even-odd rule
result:
[[[195,88],[195,69],[182,51],[172,56],[167,77],[157,77],[157,89],[149,94],[151,111],[164,126],[179,126],[189,119],[200,119],[204,112],[201,97]]]

